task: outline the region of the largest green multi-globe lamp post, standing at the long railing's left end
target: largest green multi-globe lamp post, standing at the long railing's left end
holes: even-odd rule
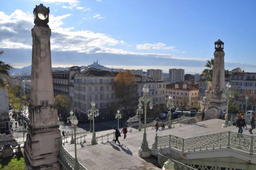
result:
[[[144,134],[143,134],[143,140],[141,142],[141,148],[138,150],[138,154],[141,158],[147,158],[150,157],[150,149],[148,148],[148,142],[147,142],[147,135],[146,135],[146,115],[147,115],[147,103],[149,102],[149,108],[153,108],[153,100],[151,97],[148,97],[148,87],[147,85],[144,85],[143,89],[143,96],[140,97],[139,101],[139,109],[141,109],[142,103],[144,103]],[[141,103],[141,104],[140,104]]]

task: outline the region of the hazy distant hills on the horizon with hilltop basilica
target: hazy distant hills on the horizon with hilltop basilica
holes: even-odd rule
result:
[[[94,68],[97,68],[97,69],[100,69],[100,70],[114,71],[114,72],[118,72],[120,70],[123,70],[122,68],[113,68],[112,69],[112,68],[105,67],[103,65],[98,64],[98,61],[93,62],[93,64],[91,64],[91,65],[81,66],[81,69],[85,69],[85,68],[88,68],[88,67],[94,67]],[[52,70],[69,70],[69,67],[52,67]],[[13,68],[10,71],[10,74],[12,76],[31,75],[31,65],[26,66],[26,67],[22,67],[22,68]]]

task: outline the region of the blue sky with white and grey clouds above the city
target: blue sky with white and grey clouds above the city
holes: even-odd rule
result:
[[[10,3],[11,2],[11,3]],[[52,65],[199,73],[221,39],[225,67],[256,72],[256,1],[1,0],[2,60],[31,64],[33,8],[50,7]]]

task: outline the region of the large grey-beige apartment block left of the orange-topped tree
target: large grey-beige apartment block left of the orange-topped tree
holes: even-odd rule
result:
[[[117,102],[114,81],[115,73],[95,68],[88,68],[74,75],[74,89],[70,90],[78,120],[88,120],[87,110],[91,109],[92,100],[100,110],[96,120],[108,120],[113,117],[110,115],[110,107]]]

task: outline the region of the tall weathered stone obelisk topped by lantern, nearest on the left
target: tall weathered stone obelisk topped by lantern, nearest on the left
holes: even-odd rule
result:
[[[49,7],[34,8],[30,124],[24,148],[26,170],[59,170],[61,139],[51,72]]]

